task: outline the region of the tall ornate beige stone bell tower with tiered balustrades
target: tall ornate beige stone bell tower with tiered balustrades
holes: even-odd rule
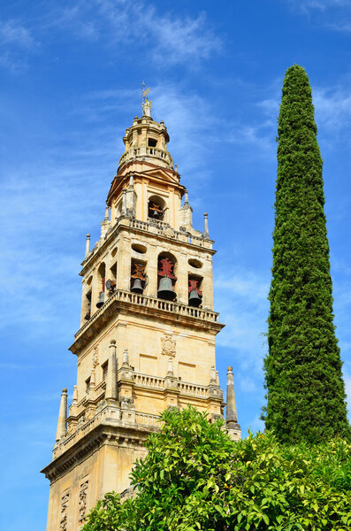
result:
[[[70,348],[77,385],[68,414],[63,390],[52,461],[42,471],[50,479],[48,531],[78,530],[98,498],[129,486],[164,409],[191,404],[216,419],[225,407],[207,214],[202,234],[148,100],[123,141],[101,237],[90,250],[87,236],[80,272],[80,330]],[[227,396],[227,427],[240,438],[231,367]]]

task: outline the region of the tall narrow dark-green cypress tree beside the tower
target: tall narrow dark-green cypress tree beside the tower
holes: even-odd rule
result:
[[[350,436],[332,313],[322,158],[309,78],[286,71],[278,126],[278,176],[269,300],[267,405],[281,442]]]

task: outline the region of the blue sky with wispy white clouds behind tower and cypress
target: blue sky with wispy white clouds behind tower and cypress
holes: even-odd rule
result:
[[[351,405],[351,3],[13,0],[0,6],[0,361],[7,531],[45,528],[60,391],[72,396],[85,235],[141,114],[141,81],[189,190],[209,212],[215,301],[243,433],[259,429],[286,68],[303,65],[324,158],[334,311]],[[19,508],[20,507],[20,508]]]

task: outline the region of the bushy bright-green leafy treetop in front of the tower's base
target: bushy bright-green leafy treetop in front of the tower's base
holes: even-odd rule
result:
[[[332,531],[351,528],[351,444],[234,443],[195,409],[164,412],[132,473],[135,496],[110,493],[83,531]]]

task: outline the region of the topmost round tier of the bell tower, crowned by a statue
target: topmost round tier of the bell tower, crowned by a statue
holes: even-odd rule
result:
[[[126,129],[123,138],[126,151],[119,159],[118,172],[128,162],[143,160],[151,164],[173,169],[173,159],[167,150],[170,137],[164,121],[160,123],[151,118],[151,102],[145,99],[142,104],[142,116],[135,116],[132,127]]]

